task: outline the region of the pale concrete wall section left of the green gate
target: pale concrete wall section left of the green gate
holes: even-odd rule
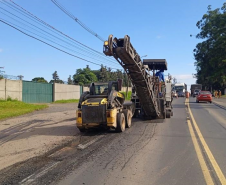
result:
[[[22,101],[21,80],[0,80],[0,99],[6,100],[8,97]]]

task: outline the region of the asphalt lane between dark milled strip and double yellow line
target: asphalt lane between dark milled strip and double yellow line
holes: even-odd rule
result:
[[[175,99],[171,119],[136,120],[114,140],[106,139],[59,184],[205,184],[184,101]]]

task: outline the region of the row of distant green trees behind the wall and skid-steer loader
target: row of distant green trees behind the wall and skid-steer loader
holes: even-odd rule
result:
[[[67,79],[67,84],[74,84],[74,85],[90,85],[91,82],[108,82],[108,81],[116,81],[117,79],[123,80],[123,86],[127,86],[128,78],[124,71],[116,70],[113,71],[111,68],[107,68],[106,66],[101,65],[100,69],[98,70],[91,70],[89,65],[83,69],[77,69],[74,75],[69,75]],[[42,82],[48,83],[43,77],[36,77],[33,78],[32,81],[34,82]],[[52,74],[52,80],[49,83],[61,83],[64,84],[65,81],[61,80],[57,71]],[[129,81],[129,86],[131,83]]]

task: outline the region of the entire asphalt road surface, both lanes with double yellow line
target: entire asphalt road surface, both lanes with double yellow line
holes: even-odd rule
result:
[[[124,133],[84,133],[1,172],[0,184],[224,184],[225,120],[214,104],[174,99],[171,119],[133,119]]]

